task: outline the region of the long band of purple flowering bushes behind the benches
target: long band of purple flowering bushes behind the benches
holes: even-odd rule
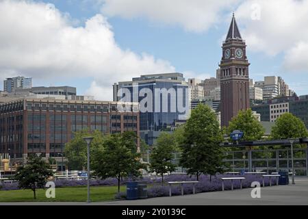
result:
[[[199,177],[199,183],[196,183],[196,193],[198,192],[214,192],[222,190],[222,182],[220,180],[221,177],[231,177],[232,175],[216,175],[211,177],[211,181],[209,181],[209,176],[201,175]],[[253,181],[259,181],[262,185],[262,177],[261,175],[245,175],[246,179],[242,181],[243,188],[250,188],[251,183]],[[149,198],[159,197],[159,196],[169,196],[169,186],[165,184],[161,186],[161,178],[160,177],[144,177],[140,179],[131,179],[125,178],[121,181],[121,185],[126,185],[129,181],[134,180],[142,180],[146,181],[148,184],[148,196]],[[164,177],[164,182],[167,181],[196,181],[196,177],[189,175],[168,175]],[[268,186],[270,181],[268,177],[265,178],[265,185]],[[86,186],[87,180],[66,180],[66,179],[57,179],[55,181],[56,188],[62,187],[77,187],[77,186]],[[94,179],[90,181],[91,186],[103,186],[103,185],[117,185],[117,180],[115,178],[108,179]],[[151,185],[151,186],[149,186]],[[276,179],[272,179],[272,185],[276,185]],[[192,194],[192,185],[185,184],[183,186],[184,194]],[[240,181],[233,181],[233,188],[240,188]],[[19,190],[18,182],[13,183],[2,183],[0,185],[0,190]],[[231,181],[224,182],[224,190],[231,190]],[[181,186],[180,185],[172,185],[172,196],[181,195]],[[116,194],[116,198],[125,198],[126,194],[121,192],[120,194]]]

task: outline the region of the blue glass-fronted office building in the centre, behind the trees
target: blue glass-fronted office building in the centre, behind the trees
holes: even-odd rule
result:
[[[115,83],[114,101],[123,98],[140,103],[140,136],[149,145],[155,143],[160,131],[187,118],[190,110],[189,86],[181,73],[141,75]]]

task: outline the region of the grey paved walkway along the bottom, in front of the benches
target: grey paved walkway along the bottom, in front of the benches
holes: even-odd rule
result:
[[[0,205],[308,205],[308,179],[296,179],[296,185],[261,188],[261,198],[251,198],[252,188],[205,192],[194,195],[148,198],[105,203],[0,203]]]

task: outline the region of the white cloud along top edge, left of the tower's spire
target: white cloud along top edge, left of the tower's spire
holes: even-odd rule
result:
[[[123,18],[145,17],[149,21],[179,25],[188,31],[201,32],[220,23],[223,12],[238,2],[240,0],[105,0],[102,12],[107,16]]]

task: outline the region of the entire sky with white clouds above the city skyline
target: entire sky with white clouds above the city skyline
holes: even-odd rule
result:
[[[250,77],[308,94],[308,0],[0,0],[0,80],[107,101],[113,83],[141,74],[215,77],[233,12]]]

